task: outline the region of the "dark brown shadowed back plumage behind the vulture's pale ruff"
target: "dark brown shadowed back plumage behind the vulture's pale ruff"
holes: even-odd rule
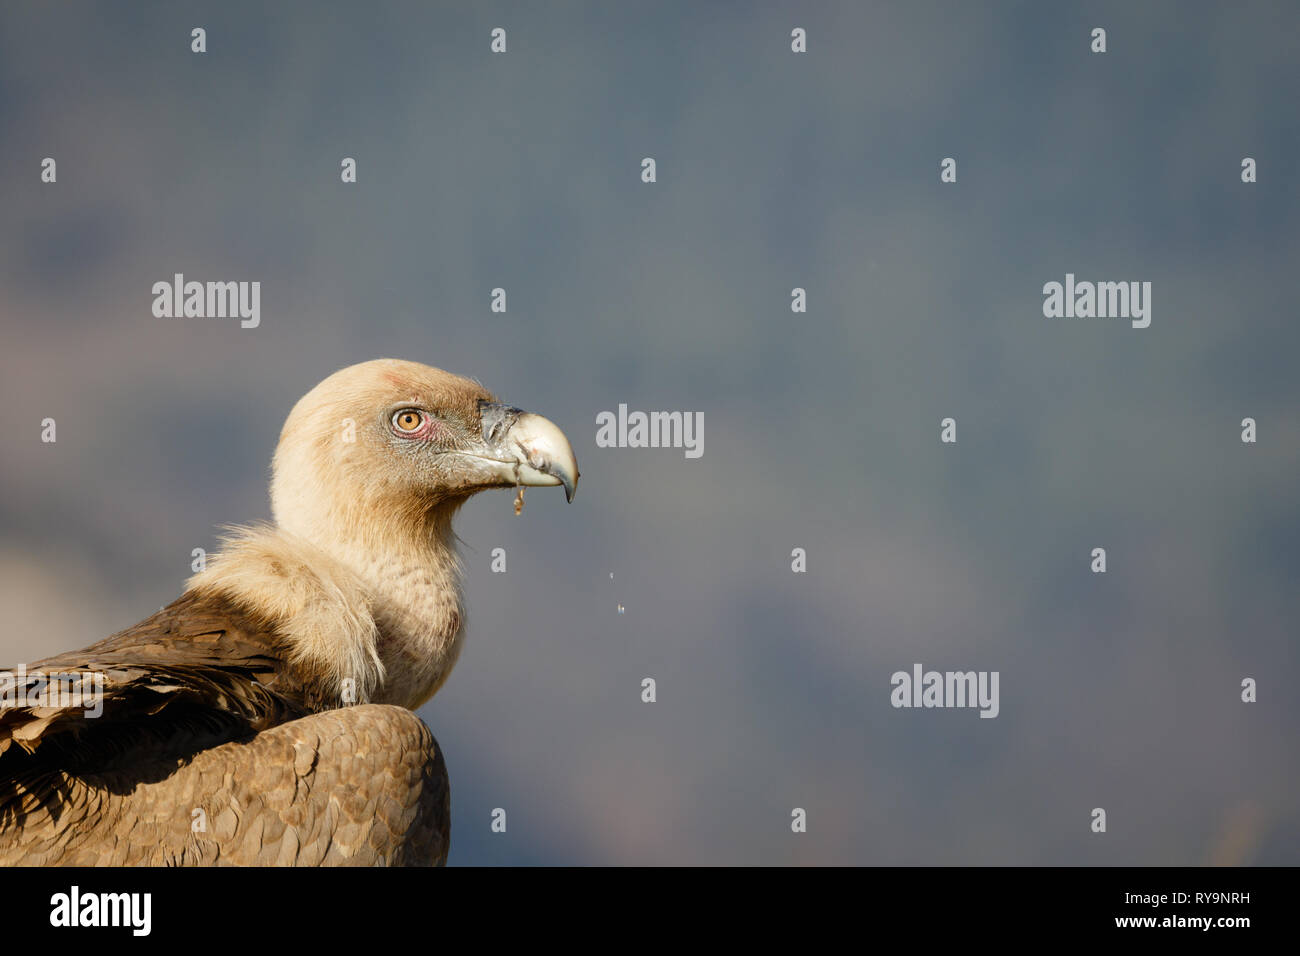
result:
[[[0,698],[0,840],[34,808],[57,813],[81,778],[122,770],[109,784],[126,792],[131,774],[161,779],[204,749],[328,706],[311,675],[285,663],[272,624],[194,592],[25,670]],[[94,696],[52,696],[51,675]]]

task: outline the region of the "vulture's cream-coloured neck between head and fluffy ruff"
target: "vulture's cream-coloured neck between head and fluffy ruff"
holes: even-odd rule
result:
[[[389,520],[333,510],[329,520],[290,531],[352,571],[365,587],[384,680],[376,704],[415,709],[437,692],[460,653],[464,611],[451,518],[460,501],[443,501]]]

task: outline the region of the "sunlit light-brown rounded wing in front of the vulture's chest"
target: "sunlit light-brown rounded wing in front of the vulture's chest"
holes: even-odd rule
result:
[[[441,865],[447,769],[410,710],[368,704],[272,727],[177,766],[52,774],[22,826],[0,826],[0,865]]]

